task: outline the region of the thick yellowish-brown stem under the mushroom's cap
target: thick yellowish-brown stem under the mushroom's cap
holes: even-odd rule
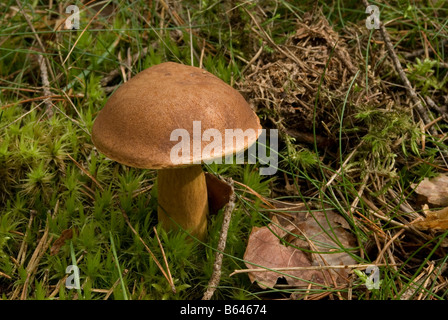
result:
[[[181,227],[204,240],[207,233],[208,199],[201,165],[159,170],[157,188],[158,217],[163,228],[176,230]]]

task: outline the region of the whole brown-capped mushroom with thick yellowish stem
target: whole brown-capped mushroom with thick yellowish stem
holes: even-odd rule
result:
[[[201,164],[244,152],[260,134],[259,118],[237,90],[203,69],[173,62],[121,85],[92,128],[94,145],[108,158],[158,170],[159,223],[200,240],[209,212]]]

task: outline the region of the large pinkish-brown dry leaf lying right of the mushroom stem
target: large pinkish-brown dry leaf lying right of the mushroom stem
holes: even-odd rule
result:
[[[297,208],[297,204],[295,204]],[[286,218],[287,217],[287,218]],[[249,278],[262,288],[272,287],[279,278],[289,285],[304,287],[312,281],[315,285],[334,285],[343,283],[348,269],[312,269],[316,266],[340,266],[355,264],[356,261],[341,250],[340,246],[350,250],[356,246],[354,236],[349,232],[347,222],[331,210],[287,212],[279,219],[274,217],[268,227],[253,228],[244,259],[248,268],[255,265],[267,268],[310,267],[309,270],[249,272]],[[289,231],[288,233],[285,230]],[[296,236],[291,236],[295,234]],[[293,246],[285,246],[279,238]],[[337,239],[335,242],[333,239]],[[310,253],[310,251],[312,253]],[[298,279],[297,279],[298,278]]]

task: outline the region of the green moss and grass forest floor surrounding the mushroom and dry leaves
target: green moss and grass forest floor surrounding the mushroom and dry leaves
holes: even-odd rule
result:
[[[412,109],[379,31],[365,28],[360,1],[3,1],[0,297],[202,297],[224,211],[210,217],[205,243],[166,233],[157,225],[156,172],[107,159],[90,136],[119,84],[174,61],[201,66],[239,89],[262,125],[279,130],[275,176],[261,176],[259,164],[204,166],[238,182],[214,299],[446,299],[447,231],[403,226],[424,216],[411,185],[447,170],[448,4],[371,3],[434,120],[428,127]],[[80,8],[79,30],[64,29],[70,4]],[[326,24],[322,33],[313,29]],[[347,71],[341,47],[357,73]],[[246,268],[252,228],[272,222],[264,203],[270,200],[340,213],[357,239],[356,263],[379,265],[379,289],[367,290],[361,272],[351,274],[350,286],[317,289],[261,289],[245,273],[231,275]],[[169,267],[176,292],[145,244]],[[65,287],[69,265],[79,267],[82,289]]]

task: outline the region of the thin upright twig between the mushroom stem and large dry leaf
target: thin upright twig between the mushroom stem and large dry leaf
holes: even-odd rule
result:
[[[216,248],[215,254],[215,263],[213,265],[213,273],[210,277],[210,281],[208,283],[207,291],[204,293],[202,300],[210,300],[218,287],[219,281],[221,279],[221,267],[222,267],[222,259],[223,252],[226,248],[227,241],[227,232],[229,230],[230,220],[232,217],[233,209],[235,208],[235,191],[233,189],[233,179],[227,179],[227,183],[230,185],[232,189],[232,194],[230,195],[229,203],[227,203],[226,208],[224,209],[224,218],[222,222],[221,234],[219,236],[218,247]]]

